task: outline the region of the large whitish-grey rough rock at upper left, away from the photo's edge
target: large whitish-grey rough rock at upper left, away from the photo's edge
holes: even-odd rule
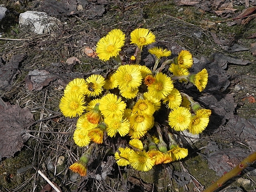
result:
[[[45,12],[26,11],[20,14],[19,24],[22,27],[30,27],[32,32],[37,34],[53,31],[61,24],[55,17],[50,17]]]

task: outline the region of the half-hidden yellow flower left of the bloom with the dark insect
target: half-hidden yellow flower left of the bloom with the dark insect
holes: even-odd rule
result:
[[[76,93],[84,94],[85,90],[86,90],[85,79],[75,78],[66,85],[64,89],[64,94],[68,92],[76,92]]]

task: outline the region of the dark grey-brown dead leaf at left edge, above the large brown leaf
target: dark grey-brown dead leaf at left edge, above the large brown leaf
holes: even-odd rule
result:
[[[26,57],[26,54],[14,55],[7,64],[0,63],[0,90],[8,88],[18,74],[18,66]]]

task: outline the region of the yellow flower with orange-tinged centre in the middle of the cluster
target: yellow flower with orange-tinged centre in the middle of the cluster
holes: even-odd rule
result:
[[[153,115],[155,107],[148,99],[139,98],[132,108],[132,113]]]

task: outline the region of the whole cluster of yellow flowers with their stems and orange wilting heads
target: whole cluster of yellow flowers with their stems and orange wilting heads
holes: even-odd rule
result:
[[[156,164],[180,160],[188,155],[188,149],[180,147],[173,138],[175,131],[187,129],[198,134],[209,123],[211,110],[202,108],[175,88],[175,82],[190,82],[202,92],[207,85],[206,69],[196,74],[189,72],[193,64],[189,51],[183,50],[177,57],[168,59],[172,54],[170,50],[149,49],[156,58],[150,69],[140,64],[140,55],[145,45],[155,42],[154,33],[143,28],[130,33],[130,43],[137,48],[131,62],[124,64],[120,52],[125,40],[124,32],[118,29],[102,37],[96,44],[98,58],[102,61],[112,58],[117,66],[106,77],[93,74],[86,79],[73,79],[60,100],[63,115],[78,118],[74,142],[79,147],[91,143],[81,159],[69,167],[81,176],[86,175],[93,146],[103,143],[107,138],[104,135],[129,138],[127,146],[117,146],[114,156],[118,165],[148,171]],[[166,59],[160,63],[162,58]],[[168,70],[163,72],[165,68]],[[161,106],[165,106],[165,110],[160,110]],[[166,114],[168,124],[155,121],[159,113]]]

